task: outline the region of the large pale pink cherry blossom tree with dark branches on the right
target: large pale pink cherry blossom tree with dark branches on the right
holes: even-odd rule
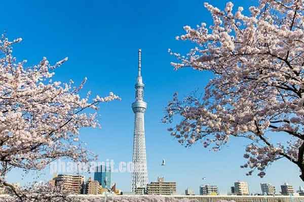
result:
[[[192,67],[213,78],[202,97],[174,94],[163,122],[174,124],[168,130],[185,146],[200,141],[218,150],[232,136],[246,138],[247,175],[258,170],[263,177],[285,158],[304,181],[304,1],[260,0],[248,15],[231,2],[224,11],[204,5],[212,25],[184,26],[176,39],[194,47],[169,52],[176,70]],[[181,119],[176,125],[174,117]]]

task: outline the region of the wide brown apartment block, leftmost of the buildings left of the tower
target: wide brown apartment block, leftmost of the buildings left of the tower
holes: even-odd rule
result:
[[[53,178],[56,186],[62,186],[63,189],[69,190],[74,194],[84,192],[85,177],[81,175],[58,175]]]

